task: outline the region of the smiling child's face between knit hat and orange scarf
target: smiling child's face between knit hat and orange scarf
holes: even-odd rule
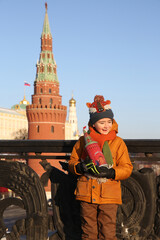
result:
[[[93,127],[101,134],[108,134],[112,128],[112,119],[102,118],[93,124]]]

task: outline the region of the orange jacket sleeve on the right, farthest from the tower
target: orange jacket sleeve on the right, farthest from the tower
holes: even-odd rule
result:
[[[115,180],[127,179],[133,170],[125,142],[121,139],[116,156]]]

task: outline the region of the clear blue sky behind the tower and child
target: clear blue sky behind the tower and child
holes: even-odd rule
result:
[[[119,136],[160,139],[160,1],[48,0],[63,105],[77,102],[79,131],[86,102],[111,100]],[[31,102],[45,15],[42,0],[0,0],[0,107]]]

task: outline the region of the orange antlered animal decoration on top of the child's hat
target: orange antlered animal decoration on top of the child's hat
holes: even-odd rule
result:
[[[104,112],[107,109],[111,109],[110,100],[104,101],[104,97],[101,95],[96,95],[94,97],[94,102],[93,103],[86,103],[87,107],[89,108],[90,113],[95,113],[95,112]]]

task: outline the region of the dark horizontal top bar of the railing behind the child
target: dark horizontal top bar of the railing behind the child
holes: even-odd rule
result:
[[[124,139],[131,153],[160,153],[160,139]],[[76,140],[0,140],[0,153],[70,153]]]

